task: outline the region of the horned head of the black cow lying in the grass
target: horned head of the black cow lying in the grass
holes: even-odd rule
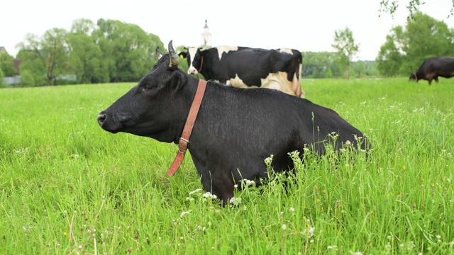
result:
[[[175,102],[186,74],[178,69],[178,56],[169,42],[169,53],[162,55],[156,48],[159,60],[153,69],[136,86],[118,98],[98,115],[98,123],[106,131],[128,132],[152,137],[161,142],[174,142]],[[178,70],[178,72],[176,72]]]

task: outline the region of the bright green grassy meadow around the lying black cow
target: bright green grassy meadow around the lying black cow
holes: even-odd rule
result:
[[[0,254],[454,254],[454,79],[301,84],[371,151],[294,152],[226,208],[189,155],[165,174],[176,145],[99,128],[135,84],[0,89]]]

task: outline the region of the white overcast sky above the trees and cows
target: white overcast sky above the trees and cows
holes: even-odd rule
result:
[[[74,20],[113,19],[138,25],[157,35],[164,45],[201,45],[208,20],[212,46],[238,45],[265,49],[292,47],[302,52],[332,52],[334,33],[353,32],[360,52],[355,60],[375,60],[393,26],[405,26],[406,4],[397,14],[380,12],[380,0],[5,0],[0,4],[0,46],[16,56],[16,45],[28,33],[41,37],[46,30],[70,30]],[[426,0],[423,13],[454,27],[452,1]]]

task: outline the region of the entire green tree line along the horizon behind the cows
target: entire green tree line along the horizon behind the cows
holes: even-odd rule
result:
[[[74,21],[70,31],[52,28],[41,37],[28,34],[18,44],[20,86],[138,81],[157,62],[157,46],[165,52],[157,35],[102,18],[96,23]],[[416,12],[406,26],[389,31],[375,61],[352,61],[360,45],[349,28],[335,31],[332,46],[336,52],[301,52],[303,77],[407,76],[428,57],[454,56],[454,29]],[[0,83],[3,77],[18,75],[13,59],[0,54]],[[186,62],[180,62],[180,68],[186,70]]]

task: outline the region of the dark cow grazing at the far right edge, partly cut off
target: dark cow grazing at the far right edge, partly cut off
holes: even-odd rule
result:
[[[418,71],[410,74],[409,80],[425,79],[431,85],[433,79],[438,83],[438,77],[454,77],[454,57],[432,57],[424,60]]]

